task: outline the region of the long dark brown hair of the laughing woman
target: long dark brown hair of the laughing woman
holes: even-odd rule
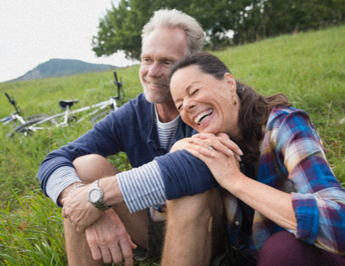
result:
[[[231,73],[227,66],[215,55],[208,52],[197,52],[183,57],[170,72],[170,78],[178,69],[196,65],[202,73],[209,74],[218,80],[224,78],[225,73]],[[236,92],[241,100],[239,111],[239,127],[243,141],[237,143],[244,152],[246,162],[258,161],[260,156],[259,143],[262,139],[262,125],[267,123],[269,114],[276,106],[290,107],[291,104],[283,93],[262,96],[252,87],[236,80]]]

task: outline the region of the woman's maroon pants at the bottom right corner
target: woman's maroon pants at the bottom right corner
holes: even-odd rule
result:
[[[338,266],[345,265],[345,256],[335,255],[296,239],[283,230],[269,237],[262,246],[258,266]]]

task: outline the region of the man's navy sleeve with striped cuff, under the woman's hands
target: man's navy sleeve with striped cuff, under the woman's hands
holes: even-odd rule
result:
[[[117,179],[131,213],[165,200],[204,193],[217,186],[209,168],[188,151],[160,156],[153,162],[118,174]]]

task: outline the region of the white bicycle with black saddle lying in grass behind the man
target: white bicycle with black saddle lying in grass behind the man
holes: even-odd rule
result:
[[[93,118],[90,120],[91,123],[95,123],[104,116],[106,116],[111,111],[115,111],[120,107],[118,104],[118,101],[120,102],[121,99],[121,90],[122,90],[122,82],[118,80],[118,76],[116,74],[116,71],[114,73],[114,84],[118,88],[118,95],[109,97],[107,101],[99,102],[97,104],[92,104],[90,106],[85,106],[80,109],[76,109],[71,111],[71,107],[74,104],[77,104],[79,101],[78,99],[72,99],[72,100],[60,100],[59,101],[59,107],[64,110],[62,113],[57,113],[53,116],[48,116],[47,118],[43,118],[39,121],[28,121],[27,123],[24,123],[18,127],[15,127],[12,132],[8,134],[8,137],[13,137],[15,134],[23,133],[24,136],[27,136],[27,134],[36,132],[38,130],[52,130],[56,127],[66,127],[70,125],[71,123],[80,123],[81,121],[85,120],[86,118],[90,118],[93,116]],[[110,111],[104,111],[107,107],[110,107]],[[85,116],[81,118],[77,118],[78,113],[82,113],[85,111],[89,111],[91,109],[94,109],[90,113],[87,113]],[[62,122],[58,122],[57,120],[61,120]],[[50,124],[50,125],[48,125]]]

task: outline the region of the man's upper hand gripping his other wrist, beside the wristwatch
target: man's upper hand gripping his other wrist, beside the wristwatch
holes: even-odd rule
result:
[[[87,200],[89,190],[90,185],[80,187],[62,200],[64,204],[62,216],[68,218],[72,226],[76,227],[80,233],[85,232],[85,229],[97,221],[101,215],[101,211]]]

